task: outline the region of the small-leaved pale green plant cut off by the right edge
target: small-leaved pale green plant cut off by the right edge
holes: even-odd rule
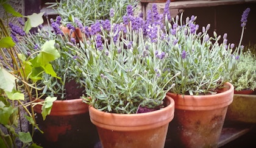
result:
[[[256,88],[256,55],[250,49],[240,55],[238,64],[231,78],[236,91]]]

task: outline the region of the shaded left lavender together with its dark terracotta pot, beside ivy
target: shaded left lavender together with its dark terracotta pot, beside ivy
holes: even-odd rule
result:
[[[54,48],[59,53],[59,58],[51,62],[51,70],[55,71],[55,77],[41,74],[36,85],[41,87],[40,91],[32,93],[40,94],[39,101],[44,101],[46,96],[55,97],[51,113],[47,118],[41,114],[42,106],[35,105],[37,122],[43,130],[36,133],[35,141],[44,147],[93,147],[98,142],[96,127],[90,122],[88,105],[82,102],[82,94],[85,88],[79,83],[80,72],[74,69],[76,66],[76,52],[72,52],[76,41],[64,35],[60,29],[60,17],[50,19],[49,26],[38,27],[34,34],[28,33],[21,37],[17,43],[24,57],[33,57],[41,50],[43,43],[52,41],[49,50]],[[51,54],[51,51],[46,51]],[[87,137],[87,139],[84,139]],[[73,141],[70,143],[69,141]]]

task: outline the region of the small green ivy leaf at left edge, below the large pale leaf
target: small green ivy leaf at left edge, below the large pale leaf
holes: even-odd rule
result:
[[[8,125],[9,118],[13,113],[12,106],[10,107],[0,107],[0,123],[3,125]]]

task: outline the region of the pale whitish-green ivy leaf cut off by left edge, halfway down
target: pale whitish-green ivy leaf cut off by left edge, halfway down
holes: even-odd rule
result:
[[[13,88],[15,88],[15,80],[16,78],[12,74],[0,66],[0,88],[2,90],[12,92]]]

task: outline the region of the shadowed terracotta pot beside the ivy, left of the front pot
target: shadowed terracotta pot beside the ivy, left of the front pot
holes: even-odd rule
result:
[[[41,105],[36,105],[34,111],[44,132],[38,134],[37,141],[44,147],[93,147],[99,141],[96,127],[90,122],[88,105],[82,99],[55,100],[44,121]]]

